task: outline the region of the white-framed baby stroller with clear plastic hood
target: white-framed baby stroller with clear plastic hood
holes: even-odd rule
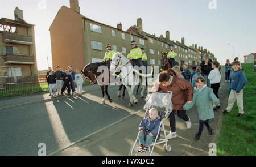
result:
[[[163,149],[164,151],[170,152],[171,151],[171,145],[167,145],[168,139],[167,139],[167,135],[166,135],[166,130],[164,129],[164,123],[163,121],[168,118],[169,114],[172,111],[172,92],[168,91],[168,93],[148,93],[147,97],[146,97],[146,104],[144,105],[144,110],[146,110],[146,115],[145,117],[148,116],[148,111],[151,108],[156,108],[158,110],[158,115],[161,118],[161,122],[160,122],[160,126],[158,129],[158,134],[156,135],[156,138],[152,141],[152,144],[150,145],[149,151],[148,152],[139,152],[139,153],[146,153],[148,155],[152,155],[152,152],[154,150],[154,147],[156,144],[161,144],[161,143],[165,143],[163,145]],[[159,111],[163,111],[163,112],[159,112]],[[164,132],[164,139],[160,139],[160,130],[161,127],[163,128],[163,132]],[[159,140],[159,142],[157,142],[157,140]],[[129,155],[130,156],[137,156],[138,154],[138,150],[139,147],[135,147],[136,143],[138,141],[138,135],[137,138],[133,144],[133,147],[131,147]],[[152,149],[151,149],[152,147]]]

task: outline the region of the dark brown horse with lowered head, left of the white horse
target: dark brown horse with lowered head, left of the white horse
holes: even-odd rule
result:
[[[98,80],[98,76],[100,76],[102,74],[102,72],[98,72],[98,67],[100,66],[105,66],[105,63],[102,62],[97,62],[97,63],[89,63],[88,65],[86,65],[84,67],[84,70],[81,70],[82,74],[84,74],[84,76],[89,79],[92,83],[96,84],[97,80]],[[102,80],[104,82],[104,78]],[[109,74],[109,80],[108,83],[110,83],[110,74]],[[110,98],[109,93],[108,93],[108,85],[100,85],[101,87],[101,92],[102,92],[102,104],[105,104],[105,93],[108,96],[109,102],[112,102],[113,100]],[[122,89],[122,85],[119,86],[119,91],[118,93],[120,94]],[[125,96],[125,89],[126,87],[123,88],[123,95],[122,95],[122,99]],[[120,95],[118,95],[119,97]]]

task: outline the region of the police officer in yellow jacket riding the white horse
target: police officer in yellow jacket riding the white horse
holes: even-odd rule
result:
[[[131,41],[131,51],[127,58],[133,61],[133,66],[142,66],[142,51],[134,40]]]

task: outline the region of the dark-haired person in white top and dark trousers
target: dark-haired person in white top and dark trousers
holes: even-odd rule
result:
[[[210,74],[208,75],[208,79],[210,80],[210,88],[213,89],[213,93],[215,96],[220,100],[220,97],[218,97],[218,89],[220,89],[220,80],[221,80],[221,66],[220,63],[217,61],[212,62],[212,68],[213,70],[210,71]],[[215,105],[213,102],[213,110],[216,110],[217,108],[220,108],[220,105]]]

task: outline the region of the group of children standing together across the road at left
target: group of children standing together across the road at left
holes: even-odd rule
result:
[[[75,96],[75,83],[77,85],[78,96],[82,95],[82,83],[84,83],[84,79],[82,78],[79,70],[76,70],[75,74],[72,70],[72,66],[68,66],[68,70],[65,72],[63,72],[63,68],[60,68],[59,66],[56,66],[55,72],[51,70],[51,67],[49,67],[46,77],[49,85],[49,93],[52,98],[56,97],[56,92],[58,96],[63,95],[66,88],[68,89],[68,95],[71,95],[70,93],[72,89],[72,95]]]

